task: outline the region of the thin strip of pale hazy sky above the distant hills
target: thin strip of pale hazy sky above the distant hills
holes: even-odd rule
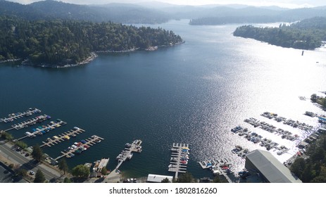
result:
[[[30,4],[40,0],[9,0],[20,4]],[[109,3],[138,3],[149,2],[153,0],[62,0],[71,4],[109,4]],[[287,8],[325,6],[325,0],[156,0],[170,4],[180,5],[205,5],[205,4],[246,4],[253,6],[282,6]]]

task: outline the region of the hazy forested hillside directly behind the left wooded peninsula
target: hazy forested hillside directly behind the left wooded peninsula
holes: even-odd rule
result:
[[[165,23],[168,15],[155,9],[132,4],[107,4],[87,6],[68,4],[62,1],[38,1],[18,4],[0,0],[0,15],[15,15],[27,20],[87,20],[114,23]]]

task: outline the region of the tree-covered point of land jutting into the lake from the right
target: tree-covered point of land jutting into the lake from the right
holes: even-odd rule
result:
[[[237,27],[234,36],[257,39],[294,49],[316,49],[326,40],[326,18],[310,18],[280,27]]]

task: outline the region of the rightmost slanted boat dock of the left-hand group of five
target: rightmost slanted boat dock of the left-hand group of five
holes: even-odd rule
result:
[[[80,143],[80,146],[74,146],[75,148],[68,148],[69,150],[67,151],[61,151],[60,156],[58,156],[57,158],[55,158],[54,160],[58,160],[60,158],[66,157],[66,158],[72,158],[73,156],[75,156],[75,152],[77,152],[78,150],[81,150],[80,148],[82,148],[82,151],[86,150],[85,147],[89,147],[89,146],[94,146],[97,143],[100,143],[101,140],[104,140],[104,138],[101,138],[99,136],[92,136],[89,137],[88,139],[84,139],[84,143]],[[73,147],[73,146],[71,146]],[[78,151],[78,153],[81,153],[82,151]]]

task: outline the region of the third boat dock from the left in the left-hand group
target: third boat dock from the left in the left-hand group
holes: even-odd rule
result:
[[[20,141],[22,139],[25,139],[27,137],[35,138],[36,136],[46,134],[50,132],[53,129],[56,129],[58,127],[61,127],[62,125],[66,125],[67,122],[63,122],[60,119],[57,119],[56,122],[51,121],[51,125],[42,125],[37,128],[32,129],[32,132],[25,132],[25,136],[20,137],[19,139],[15,139],[15,141]]]

